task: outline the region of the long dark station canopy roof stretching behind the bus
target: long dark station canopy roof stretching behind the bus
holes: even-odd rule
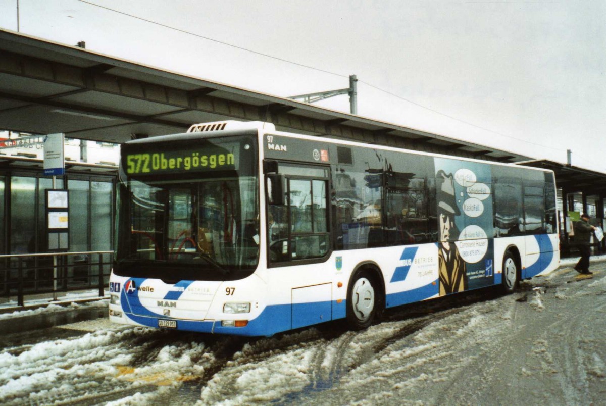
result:
[[[0,130],[121,144],[229,119],[488,161],[532,159],[0,29]],[[555,162],[539,166],[556,169],[556,181],[578,180]]]

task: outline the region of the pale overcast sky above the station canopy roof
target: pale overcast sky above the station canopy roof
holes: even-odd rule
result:
[[[28,35],[278,96],[357,75],[360,116],[606,172],[606,0],[0,0],[0,27],[17,4]]]

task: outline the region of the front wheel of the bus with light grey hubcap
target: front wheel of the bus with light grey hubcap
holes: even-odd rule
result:
[[[347,324],[351,330],[364,330],[375,321],[382,304],[380,292],[370,271],[356,271],[347,292]]]

